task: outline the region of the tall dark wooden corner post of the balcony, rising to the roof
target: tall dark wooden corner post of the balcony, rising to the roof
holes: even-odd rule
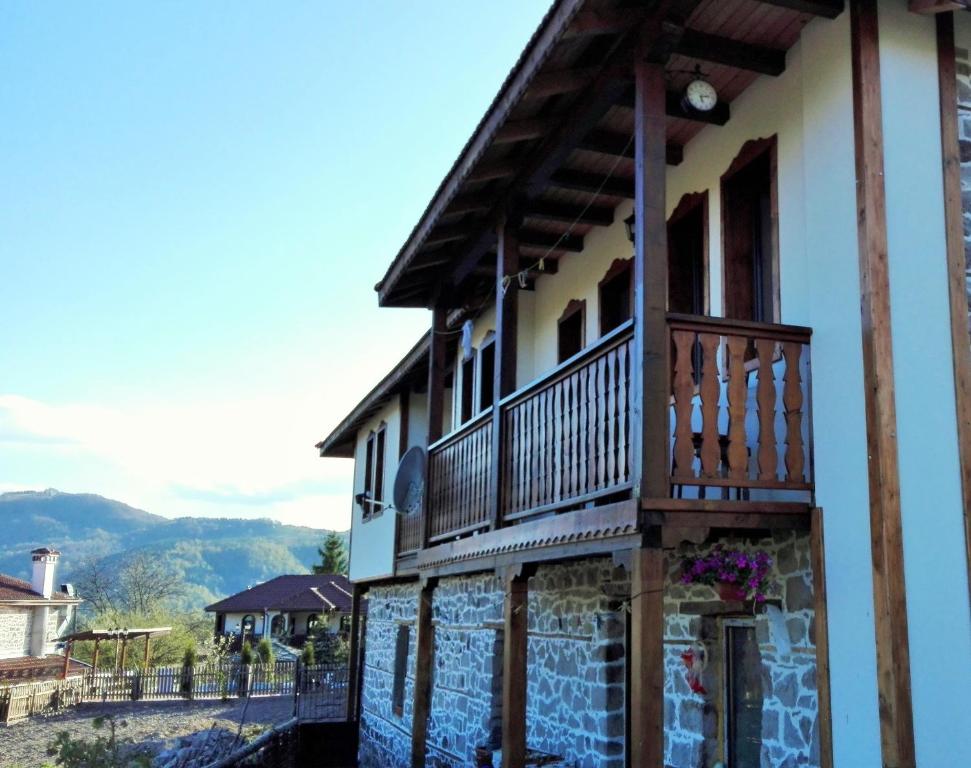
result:
[[[665,210],[664,65],[634,63],[634,385],[631,435],[635,494],[670,495],[670,350]]]

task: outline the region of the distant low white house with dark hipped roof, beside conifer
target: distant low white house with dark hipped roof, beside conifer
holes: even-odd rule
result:
[[[206,606],[216,614],[216,633],[269,635],[301,645],[313,629],[347,631],[351,584],[342,574],[277,576]],[[269,631],[267,631],[269,630]]]

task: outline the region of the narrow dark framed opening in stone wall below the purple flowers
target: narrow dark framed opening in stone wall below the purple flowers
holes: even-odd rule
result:
[[[751,619],[725,630],[725,757],[727,768],[759,765],[762,752],[762,657]]]

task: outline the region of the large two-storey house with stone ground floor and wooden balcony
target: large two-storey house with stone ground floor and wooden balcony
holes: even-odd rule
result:
[[[318,445],[362,766],[971,764],[965,5],[552,4]]]

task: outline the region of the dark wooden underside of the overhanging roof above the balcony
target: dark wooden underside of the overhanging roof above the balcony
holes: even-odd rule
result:
[[[550,14],[556,16],[561,5],[562,0],[557,0]],[[679,101],[673,95],[690,80],[696,65],[701,67],[724,103],[723,121],[728,118],[731,101],[761,76],[760,73],[776,74],[784,68],[784,52],[798,40],[803,26],[814,18],[804,11],[814,10],[831,16],[840,5],[838,0],[697,2],[687,17],[685,28],[688,32],[684,44],[666,64],[666,69],[671,72],[672,92],[667,125],[668,162],[679,162],[684,145],[704,127],[704,123],[697,119],[679,115]],[[641,15],[646,12],[645,7],[639,8]],[[402,270],[427,277],[429,291],[433,289],[432,277],[437,277],[437,282],[441,283],[436,273],[441,272],[443,263],[457,263],[455,260],[460,259],[464,266],[456,274],[471,276],[476,259],[494,248],[489,222],[503,201],[513,197],[514,185],[517,189],[524,185],[516,196],[527,203],[529,200],[537,204],[560,203],[573,206],[574,210],[592,205],[601,212],[610,211],[623,200],[630,199],[633,162],[620,138],[630,135],[633,130],[631,110],[623,105],[607,108],[594,123],[592,131],[571,131],[570,126],[577,120],[577,110],[590,103],[590,94],[597,91],[595,84],[624,82],[627,70],[621,67],[623,59],[617,58],[619,51],[615,48],[619,35],[629,35],[636,25],[638,11],[623,8],[616,0],[589,0],[580,14],[582,16],[574,17],[568,32],[545,53],[533,78],[524,84],[505,119],[496,126],[475,165],[460,180],[453,199],[434,212],[434,222],[425,221],[433,210],[433,206],[429,206],[423,221],[416,226],[379,285],[382,303],[405,303],[398,292],[400,285],[401,288],[407,286],[409,303],[427,304],[429,293],[416,290],[421,279],[417,283],[411,279],[402,280],[405,274]],[[541,36],[541,31],[536,37]],[[678,51],[677,47],[675,50]],[[530,53],[536,55],[536,52]],[[502,96],[500,93],[497,103]],[[710,115],[694,117],[711,119]],[[487,119],[488,115],[483,122]],[[565,153],[564,140],[572,142]],[[548,155],[546,159],[537,161],[544,153]],[[530,176],[537,170],[539,184],[531,182]],[[608,174],[610,178],[604,183]],[[446,178],[443,185],[448,181]],[[530,256],[548,249],[554,242],[565,246],[558,247],[557,253],[579,250],[583,236],[591,227],[605,225],[612,218],[601,215],[599,221],[573,225],[571,220],[551,215],[548,210],[530,216],[527,206],[522,213],[528,226],[527,242],[522,247]],[[571,225],[570,237],[560,242],[558,239]],[[410,254],[412,267],[401,263],[407,261],[406,254]],[[392,278],[390,282],[389,278]],[[488,282],[479,276],[475,276],[473,282],[477,287],[467,285],[461,292],[469,294],[471,291],[471,298],[475,298],[480,290],[490,290]]]

